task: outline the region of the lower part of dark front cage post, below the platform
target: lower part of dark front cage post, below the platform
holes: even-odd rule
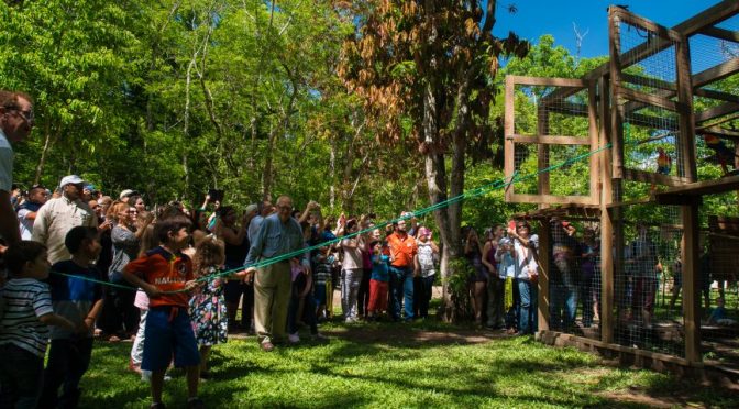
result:
[[[699,220],[696,204],[682,207],[683,233],[683,317],[685,360],[701,362],[701,277],[698,250]]]

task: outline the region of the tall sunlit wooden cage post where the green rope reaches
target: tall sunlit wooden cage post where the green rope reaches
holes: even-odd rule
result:
[[[609,89],[605,76],[598,79],[598,101],[600,109],[600,146],[610,143],[610,107]],[[598,173],[600,181],[600,341],[605,343],[614,342],[614,222],[608,204],[614,199],[614,188],[611,184],[611,150],[600,152],[600,172]]]

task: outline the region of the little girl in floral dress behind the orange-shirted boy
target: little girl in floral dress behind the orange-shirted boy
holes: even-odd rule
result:
[[[225,262],[225,245],[216,236],[208,236],[196,246],[192,257],[197,277],[209,277],[198,291],[190,298],[190,319],[195,339],[200,345],[200,378],[210,377],[208,372],[208,356],[213,345],[225,343],[229,330],[228,311],[223,288],[231,277],[243,278],[239,272],[229,276],[219,275]]]

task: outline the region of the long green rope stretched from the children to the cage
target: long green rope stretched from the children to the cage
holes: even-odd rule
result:
[[[628,130],[628,123],[627,123],[627,130]],[[446,199],[446,200],[440,201],[435,204],[431,204],[429,207],[426,207],[426,208],[416,210],[413,212],[410,212],[410,214],[408,214],[408,215],[391,219],[391,220],[375,224],[372,228],[360,230],[355,233],[346,234],[344,236],[337,237],[337,239],[330,240],[328,242],[322,242],[322,243],[316,244],[313,246],[304,247],[304,248],[300,248],[300,250],[297,250],[297,251],[294,251],[294,252],[290,252],[290,253],[286,253],[286,254],[278,255],[278,256],[275,256],[275,257],[272,257],[272,258],[263,259],[263,261],[256,262],[256,263],[247,265],[247,266],[245,265],[243,267],[232,268],[232,269],[223,270],[223,272],[207,275],[207,276],[201,276],[201,277],[198,277],[196,279],[196,281],[207,281],[209,279],[213,279],[213,278],[218,278],[218,277],[230,276],[230,275],[233,275],[234,273],[243,272],[246,268],[251,268],[251,267],[262,268],[262,267],[266,267],[268,265],[279,263],[279,262],[283,262],[283,261],[286,261],[286,259],[290,259],[290,258],[294,258],[294,257],[299,257],[299,256],[302,256],[304,254],[309,253],[313,250],[318,250],[318,248],[321,248],[321,247],[327,246],[327,245],[335,244],[335,243],[338,243],[338,242],[340,242],[344,239],[354,237],[354,236],[357,236],[360,234],[365,234],[365,233],[374,231],[375,229],[383,229],[383,228],[385,228],[389,224],[395,224],[400,220],[408,220],[412,217],[420,217],[420,215],[430,213],[432,211],[443,209],[443,208],[445,208],[445,207],[448,207],[452,203],[456,203],[456,202],[462,201],[462,200],[477,198],[479,196],[486,195],[489,191],[501,189],[501,188],[507,188],[508,186],[511,186],[516,183],[520,183],[520,181],[528,180],[528,179],[533,179],[541,174],[549,173],[549,172],[552,172],[552,170],[572,165],[576,162],[580,162],[582,159],[591,157],[591,156],[593,156],[597,153],[609,150],[610,147],[611,147],[611,144],[607,144],[607,145],[605,145],[603,147],[599,147],[597,150],[588,151],[586,153],[573,156],[573,157],[571,157],[571,158],[569,158],[564,162],[559,163],[559,164],[554,164],[554,165],[551,165],[549,167],[538,169],[537,172],[531,173],[531,174],[519,175],[519,173],[516,172],[510,177],[503,177],[503,178],[494,180],[494,181],[492,181],[487,185],[483,185],[481,187],[466,190],[463,194],[457,195],[455,197],[452,197],[450,199]],[[53,274],[62,274],[62,273],[57,273],[57,272],[52,272],[52,273]],[[64,275],[64,274],[62,274],[62,275]],[[78,276],[73,276],[73,277],[86,279],[84,277],[78,277]],[[109,286],[114,286],[114,287],[119,287],[119,288],[135,289],[135,287],[132,287],[132,286],[113,285],[112,283],[106,283],[106,281],[99,281],[99,280],[95,280],[95,283],[109,285]],[[187,290],[181,289],[181,290],[176,290],[176,291],[163,291],[163,294],[177,294],[177,292],[185,292],[185,291],[187,291]]]

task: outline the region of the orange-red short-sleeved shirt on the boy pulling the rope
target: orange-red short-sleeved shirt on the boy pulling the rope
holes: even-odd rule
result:
[[[163,306],[189,308],[189,295],[187,291],[181,291],[185,283],[195,278],[192,261],[187,255],[172,254],[158,246],[131,261],[123,270],[141,277],[161,291],[180,291],[150,298],[151,308]]]

